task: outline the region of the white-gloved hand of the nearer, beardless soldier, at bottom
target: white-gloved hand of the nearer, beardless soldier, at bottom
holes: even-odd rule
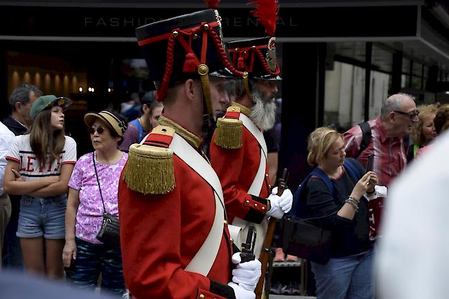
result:
[[[254,291],[262,274],[262,264],[257,258],[249,262],[240,263],[240,261],[240,252],[233,254],[232,262],[236,265],[236,269],[232,270],[232,281],[247,291]]]

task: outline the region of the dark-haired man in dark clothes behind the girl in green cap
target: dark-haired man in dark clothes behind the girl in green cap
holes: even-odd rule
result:
[[[30,108],[39,96],[44,94],[38,87],[29,83],[21,83],[12,90],[10,105],[12,114],[3,120],[3,124],[16,136],[26,134],[31,125]],[[21,196],[11,195],[11,218],[6,227],[3,239],[3,267],[23,268],[23,257],[19,238],[16,236],[19,223],[19,209]]]

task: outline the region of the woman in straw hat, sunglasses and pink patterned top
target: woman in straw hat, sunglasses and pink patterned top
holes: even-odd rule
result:
[[[126,291],[122,252],[118,244],[97,239],[104,213],[118,218],[118,182],[128,154],[117,149],[126,125],[108,111],[84,116],[94,152],[77,161],[68,183],[66,245],[62,258],[71,266],[70,279],[84,289],[95,289],[102,274],[101,291],[118,297]]]

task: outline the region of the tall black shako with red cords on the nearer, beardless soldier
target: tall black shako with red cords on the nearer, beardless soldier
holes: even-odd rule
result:
[[[229,63],[217,10],[157,21],[135,32],[156,86],[157,101],[164,101],[166,90],[176,81],[199,76],[212,117],[209,73],[227,68],[234,75],[243,76]]]

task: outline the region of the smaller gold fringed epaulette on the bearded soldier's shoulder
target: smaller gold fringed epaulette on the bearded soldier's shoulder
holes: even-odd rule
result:
[[[231,106],[226,110],[225,118],[218,118],[215,144],[225,149],[242,147],[242,121],[240,107]]]

